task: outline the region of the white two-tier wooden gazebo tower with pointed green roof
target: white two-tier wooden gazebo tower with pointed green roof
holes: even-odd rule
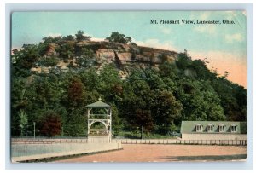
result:
[[[111,142],[112,135],[112,112],[111,107],[99,101],[87,105],[88,118],[88,141]]]

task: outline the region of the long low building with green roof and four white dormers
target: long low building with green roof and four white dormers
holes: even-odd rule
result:
[[[247,123],[234,121],[183,121],[184,140],[247,140]]]

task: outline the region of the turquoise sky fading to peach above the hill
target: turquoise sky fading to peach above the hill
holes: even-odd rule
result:
[[[150,24],[150,20],[179,20],[179,24]],[[195,24],[182,24],[193,20]],[[221,24],[197,24],[196,20],[219,20]],[[232,20],[234,24],[223,24]],[[74,35],[82,30],[93,40],[111,32],[130,36],[137,45],[183,52],[205,59],[228,79],[247,88],[247,18],[244,11],[91,11],[15,12],[12,14],[12,49],[39,43],[43,37]]]

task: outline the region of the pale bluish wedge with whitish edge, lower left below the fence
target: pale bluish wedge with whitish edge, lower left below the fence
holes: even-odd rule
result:
[[[122,149],[121,143],[12,144],[11,160],[13,163],[35,162],[44,159],[101,153],[119,149]]]

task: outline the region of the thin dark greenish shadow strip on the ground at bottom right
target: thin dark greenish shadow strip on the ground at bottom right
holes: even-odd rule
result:
[[[236,154],[236,155],[209,155],[209,156],[172,156],[172,157],[161,157],[154,158],[152,160],[167,160],[167,161],[219,161],[219,160],[239,160],[247,159],[247,154]]]

